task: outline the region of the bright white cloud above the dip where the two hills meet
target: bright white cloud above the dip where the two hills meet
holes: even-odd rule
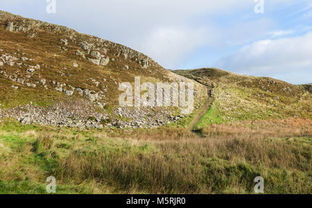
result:
[[[197,47],[212,44],[212,41],[218,39],[216,33],[206,27],[160,27],[151,30],[137,45],[139,50],[151,55],[157,62],[173,68],[175,63],[187,58]]]

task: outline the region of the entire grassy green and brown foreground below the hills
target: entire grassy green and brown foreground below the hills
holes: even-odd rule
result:
[[[79,131],[0,124],[0,193],[311,193],[312,121]]]

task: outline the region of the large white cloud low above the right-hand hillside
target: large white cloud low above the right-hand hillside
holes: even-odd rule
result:
[[[312,77],[300,77],[299,71],[311,74],[311,55],[312,32],[309,32],[300,37],[254,42],[220,59],[216,66],[236,73],[272,77],[298,72],[295,82],[304,83],[311,82]]]

